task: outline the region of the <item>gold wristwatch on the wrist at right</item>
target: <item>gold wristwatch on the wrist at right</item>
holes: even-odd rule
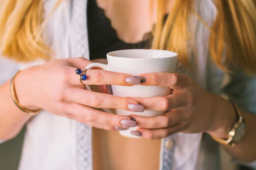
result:
[[[242,115],[238,109],[237,106],[235,106],[235,103],[232,103],[233,107],[235,108],[235,113],[238,114],[238,121],[234,123],[232,126],[230,132],[228,132],[228,139],[223,140],[218,137],[213,137],[213,140],[224,144],[224,145],[229,145],[230,147],[235,147],[235,145],[242,140],[242,137],[245,135],[245,130],[246,130],[246,123],[245,119],[242,118]]]

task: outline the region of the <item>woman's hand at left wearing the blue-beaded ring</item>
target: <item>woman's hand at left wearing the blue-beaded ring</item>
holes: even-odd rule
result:
[[[41,66],[23,70],[16,77],[16,92],[21,105],[32,110],[43,108],[55,115],[105,130],[135,126],[136,122],[127,116],[91,108],[118,108],[129,111],[129,103],[137,101],[84,89],[75,70],[85,68],[90,63],[78,57],[52,60]],[[125,82],[127,77],[132,77],[129,74],[90,69],[86,75],[88,78],[84,81],[85,84],[131,86]]]

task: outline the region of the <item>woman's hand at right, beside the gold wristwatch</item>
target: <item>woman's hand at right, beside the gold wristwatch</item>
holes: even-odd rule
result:
[[[145,110],[167,113],[155,117],[131,115],[139,127],[139,132],[134,134],[146,139],[159,139],[175,132],[209,132],[216,137],[228,137],[228,130],[235,122],[235,111],[228,101],[203,90],[183,74],[149,73],[141,76],[146,77],[146,83],[142,85],[166,86],[172,92],[169,96],[136,98]]]

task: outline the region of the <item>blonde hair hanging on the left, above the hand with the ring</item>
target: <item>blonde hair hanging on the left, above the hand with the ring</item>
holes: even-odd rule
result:
[[[57,1],[53,11],[60,1]],[[53,11],[45,18],[43,0],[1,1],[0,10],[1,55],[17,62],[49,60],[51,50],[41,33]]]

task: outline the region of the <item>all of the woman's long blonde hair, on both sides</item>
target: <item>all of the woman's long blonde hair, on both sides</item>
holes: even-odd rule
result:
[[[178,60],[191,68],[187,42],[193,38],[188,30],[188,18],[195,13],[193,1],[176,0],[164,22],[165,3],[165,0],[157,1],[152,48],[177,52]],[[215,0],[215,4],[218,14],[213,26],[209,28],[208,44],[212,60],[225,71],[240,65],[247,73],[255,73],[256,2]],[[42,24],[43,0],[5,1],[0,13],[1,54],[18,62],[38,58],[48,60],[50,49],[41,37]],[[223,55],[224,50],[226,55]]]

